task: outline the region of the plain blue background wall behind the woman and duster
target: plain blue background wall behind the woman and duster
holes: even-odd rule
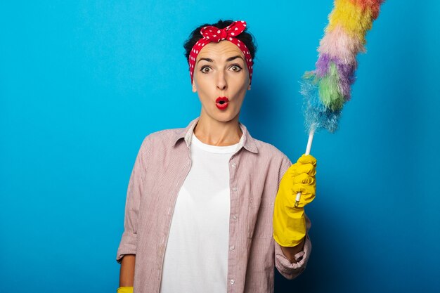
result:
[[[63,3],[60,3],[63,2]],[[240,120],[296,160],[299,78],[332,1],[2,1],[0,292],[115,292],[143,138],[200,113],[183,41],[219,18],[259,45]],[[387,1],[336,134],[313,141],[313,252],[276,292],[438,292],[440,4]]]

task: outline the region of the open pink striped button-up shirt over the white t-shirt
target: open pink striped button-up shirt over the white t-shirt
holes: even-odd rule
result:
[[[174,204],[190,170],[190,136],[198,119],[184,129],[146,136],[136,157],[116,257],[120,263],[124,254],[136,254],[134,293],[159,292]],[[290,263],[273,240],[273,203],[292,163],[273,145],[252,138],[241,123],[240,129],[242,148],[229,160],[228,293],[273,292],[273,266],[287,279],[297,277],[306,267],[311,242],[306,235],[304,251]]]

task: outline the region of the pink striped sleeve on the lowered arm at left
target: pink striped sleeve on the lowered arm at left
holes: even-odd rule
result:
[[[116,261],[122,262],[122,257],[125,254],[136,254],[136,242],[138,231],[138,212],[141,203],[141,196],[143,194],[143,183],[146,174],[146,166],[148,161],[148,152],[150,139],[147,136],[141,145],[136,161],[134,162],[133,170],[127,188],[127,199],[125,202],[124,215],[124,232],[122,233],[121,241],[117,249]]]

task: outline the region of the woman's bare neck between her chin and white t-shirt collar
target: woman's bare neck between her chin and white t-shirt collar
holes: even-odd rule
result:
[[[238,123],[238,115],[232,120],[221,122],[210,118],[204,112],[194,128],[194,135],[208,145],[235,145],[240,141],[242,131]]]

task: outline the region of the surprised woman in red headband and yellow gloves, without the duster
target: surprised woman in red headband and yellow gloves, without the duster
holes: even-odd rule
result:
[[[230,20],[202,25],[186,41],[202,110],[186,128],[155,132],[141,145],[117,292],[273,292],[273,266],[289,279],[304,270],[316,159],[291,164],[239,122],[253,41],[246,22]]]

